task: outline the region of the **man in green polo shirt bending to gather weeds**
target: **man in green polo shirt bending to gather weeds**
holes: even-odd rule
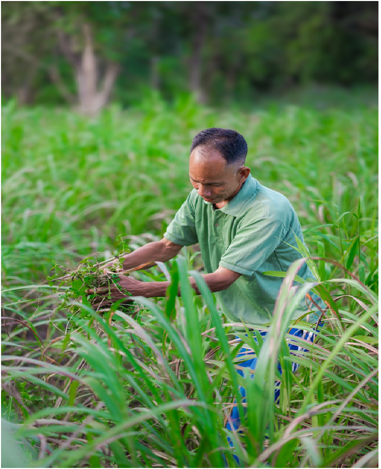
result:
[[[193,139],[189,160],[193,190],[163,239],[125,255],[123,261],[125,270],[147,262],[165,262],[175,257],[183,246],[199,243],[206,271],[203,278],[216,292],[226,317],[241,324],[237,330],[245,330],[243,322],[252,328],[270,322],[283,279],[263,273],[286,272],[301,257],[293,248],[297,246],[295,235],[303,241],[290,202],[251,176],[250,168],[245,166],[247,152],[244,137],[234,130],[209,128],[199,132]],[[298,275],[303,279],[313,277],[306,264]],[[190,280],[197,291],[194,280]],[[120,277],[120,285],[133,296],[165,296],[168,283]],[[115,300],[123,297],[116,288],[112,294]],[[295,319],[303,314],[302,308],[301,305],[295,312]],[[291,329],[290,333],[313,339],[300,329]],[[256,358],[240,365],[253,370]],[[241,394],[245,397],[244,389]],[[275,400],[278,395],[279,391]],[[228,429],[231,424],[235,429],[239,427],[236,408]]]

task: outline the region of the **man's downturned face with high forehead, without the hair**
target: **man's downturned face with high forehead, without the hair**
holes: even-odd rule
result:
[[[189,178],[198,195],[206,202],[228,202],[249,176],[245,166],[227,164],[218,150],[196,147],[189,160]]]

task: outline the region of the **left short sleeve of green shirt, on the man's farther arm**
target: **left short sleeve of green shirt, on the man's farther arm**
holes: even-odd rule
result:
[[[188,195],[164,233],[164,238],[181,246],[198,243],[192,193],[193,191]]]

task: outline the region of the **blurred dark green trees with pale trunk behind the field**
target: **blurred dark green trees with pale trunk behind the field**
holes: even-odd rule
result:
[[[378,2],[4,2],[2,97],[92,114],[375,85]]]

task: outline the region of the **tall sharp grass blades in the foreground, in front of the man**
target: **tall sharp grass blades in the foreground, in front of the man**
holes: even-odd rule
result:
[[[39,449],[31,466],[223,467],[225,455],[235,467],[224,419],[243,385],[247,419],[231,438],[244,466],[375,467],[376,296],[353,281],[369,306],[356,315],[339,310],[340,320],[328,309],[309,352],[291,357],[286,339],[306,347],[287,333],[289,317],[311,287],[295,294],[292,279],[299,266],[290,269],[273,321],[263,327],[267,339],[253,347],[259,357],[253,380],[235,372],[245,357],[234,358],[229,326],[221,323],[212,294],[194,271],[204,300],[197,308],[182,258],[172,283],[180,280],[184,307],[173,296],[175,288],[162,307],[136,298],[144,307],[137,320],[119,311],[101,318],[82,305],[94,318],[91,327],[78,318],[76,332],[43,347],[30,341],[29,353],[20,348],[25,342],[6,341],[6,410],[13,418],[22,413],[17,438],[34,438]],[[177,318],[172,321],[171,307]],[[243,339],[253,346],[250,337]],[[291,360],[302,365],[296,375]],[[279,406],[273,403],[276,380]]]

